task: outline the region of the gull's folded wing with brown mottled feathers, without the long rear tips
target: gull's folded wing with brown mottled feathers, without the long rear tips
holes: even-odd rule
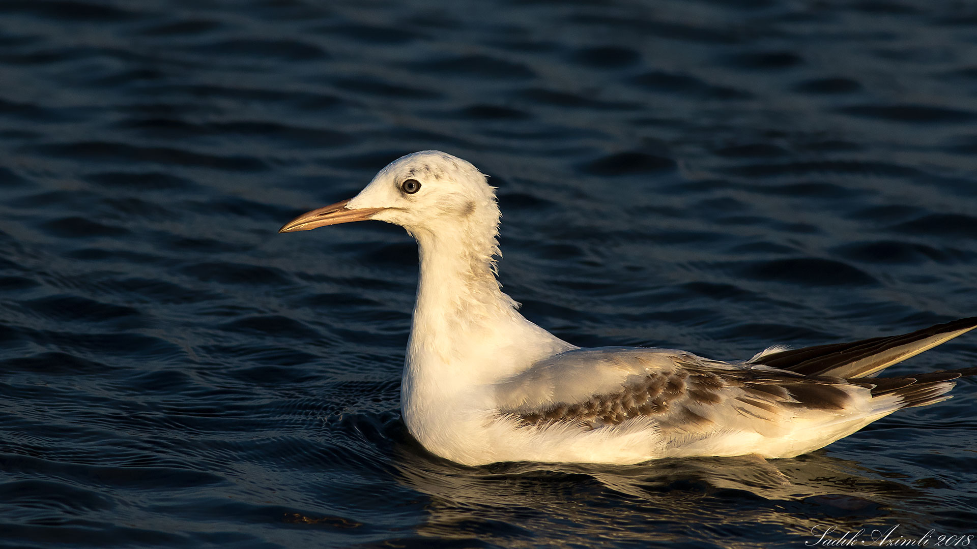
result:
[[[871,414],[867,387],[670,349],[573,350],[494,387],[498,410],[525,425],[587,429],[632,420],[666,436],[750,431],[779,436],[807,424]]]

